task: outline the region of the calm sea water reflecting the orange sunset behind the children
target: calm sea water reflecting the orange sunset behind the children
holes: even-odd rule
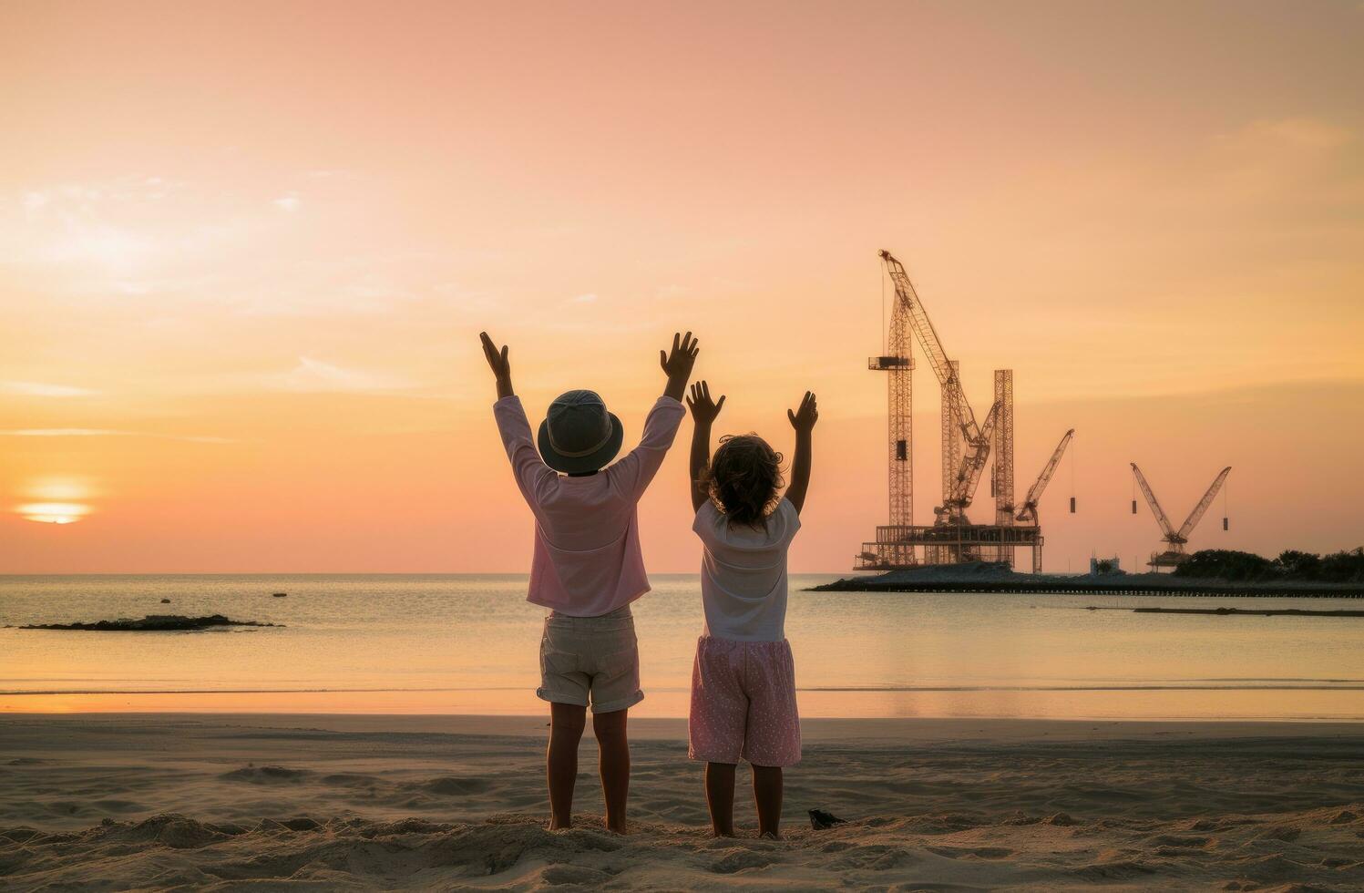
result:
[[[1364,619],[1086,609],[1348,603],[803,590],[833,578],[791,579],[809,717],[1364,720]],[[647,694],[634,713],[685,716],[698,581],[652,579],[634,605]],[[544,710],[544,611],[524,575],[0,577],[0,627],[146,614],[284,626],[0,629],[0,710]]]

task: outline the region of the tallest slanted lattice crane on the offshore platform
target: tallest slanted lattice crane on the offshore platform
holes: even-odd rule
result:
[[[929,359],[929,365],[933,367],[933,374],[938,379],[938,384],[943,387],[943,413],[944,413],[944,428],[943,428],[943,504],[933,509],[937,515],[937,524],[964,524],[964,510],[971,504],[971,499],[975,496],[975,485],[979,484],[981,470],[985,468],[986,458],[990,453],[990,434],[983,431],[982,427],[975,421],[975,413],[971,410],[971,404],[966,398],[966,391],[962,389],[962,380],[958,375],[958,365],[947,356],[947,350],[943,348],[943,339],[938,338],[937,330],[933,327],[933,320],[929,319],[928,311],[923,308],[923,303],[919,300],[918,292],[914,289],[914,284],[910,281],[910,275],[904,271],[904,264],[895,259],[889,251],[881,251],[881,260],[885,262],[885,270],[891,275],[891,281],[895,284],[895,311],[892,314],[892,338],[895,335],[895,314],[903,312],[904,323],[908,324],[910,330],[918,338],[919,346],[923,348],[925,356]],[[878,357],[880,359],[880,357]],[[887,357],[888,359],[888,357]],[[872,368],[887,368],[884,365],[873,365]],[[892,406],[892,413],[895,408]],[[992,408],[992,412],[994,409]],[[947,421],[951,419],[960,428],[962,436],[966,440],[966,449],[962,454],[962,461],[958,464],[955,461],[956,432],[952,431],[952,424]],[[892,421],[893,424],[893,421]],[[956,469],[955,473],[951,469]],[[949,477],[952,474],[952,477]]]

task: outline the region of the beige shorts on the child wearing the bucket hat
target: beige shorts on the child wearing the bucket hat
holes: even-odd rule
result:
[[[630,605],[599,618],[547,616],[535,694],[551,703],[591,703],[593,713],[623,710],[644,701]]]

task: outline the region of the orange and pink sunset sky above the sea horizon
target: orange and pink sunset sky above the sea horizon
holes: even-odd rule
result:
[[[844,570],[883,247],[979,413],[1015,369],[1020,492],[1078,428],[1049,570],[1157,545],[1133,459],[1176,524],[1234,466],[1194,548],[1359,545],[1361,45],[1357,3],[7,3],[0,571],[525,570],[484,327],[627,436],[675,329],[722,431],[790,449],[817,390],[792,566]]]

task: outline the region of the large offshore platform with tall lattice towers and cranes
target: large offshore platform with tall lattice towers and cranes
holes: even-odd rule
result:
[[[889,379],[891,517],[888,524],[877,526],[874,541],[862,544],[857,569],[899,570],[964,562],[1005,562],[1012,567],[1015,549],[1027,548],[1033,554],[1033,571],[1041,571],[1042,528],[1037,506],[1075,429],[1061,438],[1027,496],[1015,502],[1013,371],[994,371],[994,402],[985,420],[978,421],[962,389],[960,367],[943,348],[904,266],[889,251],[881,252],[881,260],[895,285],[893,308],[885,354],[872,357],[868,365]],[[914,524],[914,341],[943,390],[943,502],[934,506],[929,525]],[[992,453],[994,517],[990,524],[974,524],[966,510]],[[1075,511],[1073,496],[1071,511]]]

